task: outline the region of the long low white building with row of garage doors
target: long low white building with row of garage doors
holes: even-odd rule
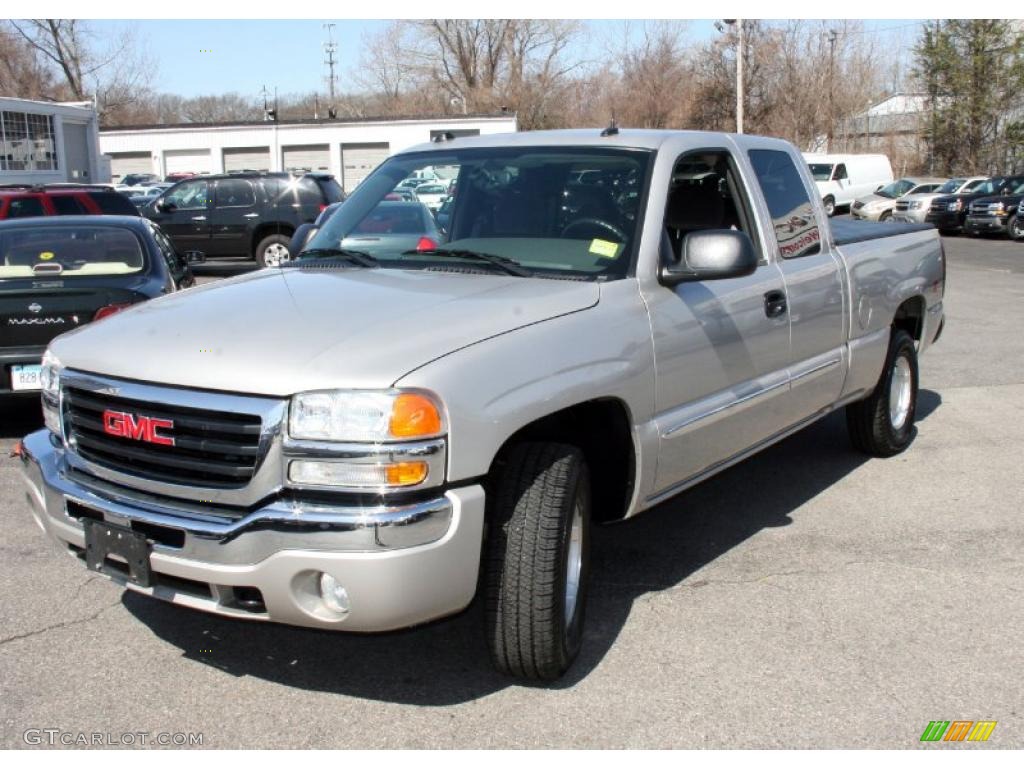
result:
[[[515,116],[308,120],[109,128],[99,146],[115,182],[129,173],[327,171],[351,191],[389,155],[438,133],[476,136],[516,130]]]

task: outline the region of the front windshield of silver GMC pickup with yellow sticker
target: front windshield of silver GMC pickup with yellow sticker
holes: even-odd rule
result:
[[[381,267],[500,271],[465,255],[475,252],[511,259],[539,276],[622,278],[632,263],[652,157],[572,146],[396,156],[359,184],[306,250],[361,251]],[[424,177],[443,183],[416,188],[422,199],[396,200],[396,189]]]

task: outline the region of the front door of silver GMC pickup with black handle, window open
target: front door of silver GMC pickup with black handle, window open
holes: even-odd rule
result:
[[[739,164],[727,150],[676,163],[663,258],[687,234],[738,229],[758,251],[744,278],[658,286],[645,296],[655,358],[660,433],[656,487],[672,489],[772,436],[784,425],[790,317],[777,264],[765,257]]]

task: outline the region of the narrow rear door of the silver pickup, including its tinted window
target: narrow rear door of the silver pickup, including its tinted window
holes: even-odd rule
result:
[[[748,152],[772,222],[770,247],[785,283],[790,307],[791,394],[786,421],[795,424],[830,407],[846,376],[846,286],[811,203],[797,159],[777,145]]]

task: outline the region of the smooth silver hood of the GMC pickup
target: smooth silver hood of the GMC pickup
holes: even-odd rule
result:
[[[388,387],[437,357],[597,304],[596,283],[419,269],[263,269],[55,339],[79,371],[287,396]]]

